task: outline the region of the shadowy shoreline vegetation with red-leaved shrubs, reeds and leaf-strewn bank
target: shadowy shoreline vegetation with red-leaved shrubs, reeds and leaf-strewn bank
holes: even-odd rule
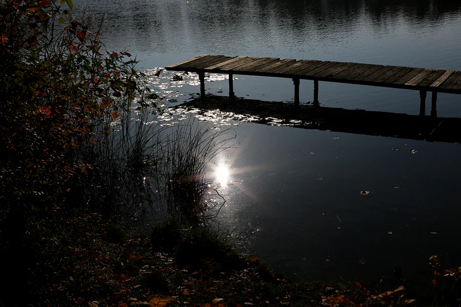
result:
[[[0,3],[0,305],[412,302],[404,287],[294,283],[237,252],[211,218],[222,202],[204,202],[219,198],[206,164],[232,135],[146,125],[160,98],[136,60],[107,52],[101,24],[72,9]],[[441,291],[442,275],[460,279],[431,264]]]

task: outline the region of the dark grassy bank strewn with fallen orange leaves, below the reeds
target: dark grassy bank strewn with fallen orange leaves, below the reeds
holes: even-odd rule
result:
[[[292,282],[260,259],[237,252],[227,236],[211,228],[173,219],[134,231],[97,213],[66,215],[30,238],[33,254],[23,262],[29,274],[23,276],[19,304],[8,301],[13,295],[0,302],[91,307],[415,304],[406,299],[403,286],[374,292],[358,282]]]

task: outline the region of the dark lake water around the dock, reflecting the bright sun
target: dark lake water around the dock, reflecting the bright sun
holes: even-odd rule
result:
[[[458,1],[75,3],[107,12],[108,48],[137,54],[145,69],[207,53],[461,70]],[[292,99],[289,79],[237,77],[238,96]],[[206,88],[228,91],[225,80]],[[185,85],[162,91],[180,102],[199,90]],[[300,97],[311,100],[311,81],[301,81]],[[406,90],[320,82],[319,98],[324,106],[419,111],[418,93]],[[437,110],[442,117],[461,117],[460,97],[439,94]],[[401,266],[411,280],[428,272],[433,254],[461,265],[459,144],[254,123],[235,131],[238,149],[211,166],[219,169],[218,180],[232,181],[221,188],[228,199],[221,218],[259,229],[249,249],[276,270],[373,281]]]

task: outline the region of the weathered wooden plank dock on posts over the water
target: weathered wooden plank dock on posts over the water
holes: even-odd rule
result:
[[[291,78],[299,103],[299,80],[314,81],[313,101],[319,101],[319,81],[351,83],[420,91],[420,115],[425,115],[427,92],[432,92],[431,116],[437,116],[437,93],[461,94],[461,72],[392,65],[267,57],[229,57],[203,54],[169,65],[169,71],[198,73],[205,99],[205,73],[229,74],[229,97],[234,97],[233,75]]]

